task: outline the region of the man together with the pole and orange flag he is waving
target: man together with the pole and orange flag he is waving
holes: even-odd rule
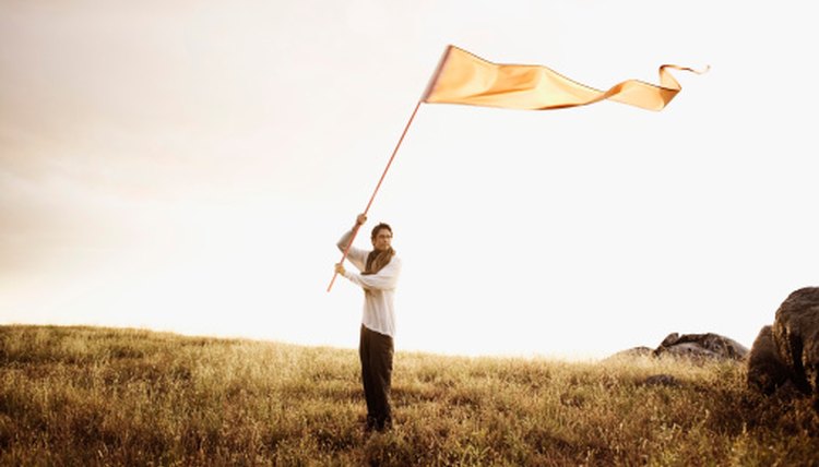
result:
[[[681,87],[669,70],[701,73],[687,67],[660,67],[660,84],[626,80],[607,91],[579,83],[544,65],[502,64],[484,60],[464,49],[449,46],[432,74],[422,98],[390,156],[381,179],[370,196],[364,214],[356,218],[354,228],[339,240],[342,262],[328,286],[333,287],[336,275],[342,275],[364,288],[364,319],[361,321],[361,380],[367,397],[367,428],[383,430],[390,427],[390,379],[392,374],[392,338],[395,332],[393,297],[401,272],[401,261],[392,250],[392,229],[379,224],[372,229],[372,252],[352,247],[358,228],[367,220],[372,201],[404,141],[422,103],[460,104],[520,110],[550,110],[587,106],[614,100],[638,108],[658,111],[680,92]],[[353,274],[344,270],[344,259],[361,271]]]

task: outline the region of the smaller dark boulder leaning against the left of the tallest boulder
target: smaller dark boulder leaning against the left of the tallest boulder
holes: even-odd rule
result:
[[[753,340],[748,356],[748,385],[771,395],[793,379],[793,372],[782,360],[776,349],[773,327],[762,327]]]

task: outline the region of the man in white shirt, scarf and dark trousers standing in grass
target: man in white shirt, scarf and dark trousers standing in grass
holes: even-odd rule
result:
[[[359,214],[355,228],[367,221]],[[355,229],[354,228],[354,229]],[[347,247],[353,230],[337,243]],[[401,274],[401,260],[392,249],[392,228],[377,225],[371,232],[372,251],[351,247],[347,260],[360,274],[351,273],[342,263],[335,272],[364,289],[364,316],[361,318],[358,355],[361,360],[361,382],[367,399],[367,430],[383,431],[392,427],[390,384],[392,381],[393,337],[395,335],[395,285]]]

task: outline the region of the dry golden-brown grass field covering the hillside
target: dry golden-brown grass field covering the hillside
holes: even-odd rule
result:
[[[399,349],[392,396],[394,429],[365,434],[353,350],[0,326],[2,465],[819,464],[809,402],[738,363]]]

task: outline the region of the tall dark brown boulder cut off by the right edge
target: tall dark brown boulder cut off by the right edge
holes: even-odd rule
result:
[[[773,342],[796,387],[819,398],[819,287],[796,290],[782,302]]]

